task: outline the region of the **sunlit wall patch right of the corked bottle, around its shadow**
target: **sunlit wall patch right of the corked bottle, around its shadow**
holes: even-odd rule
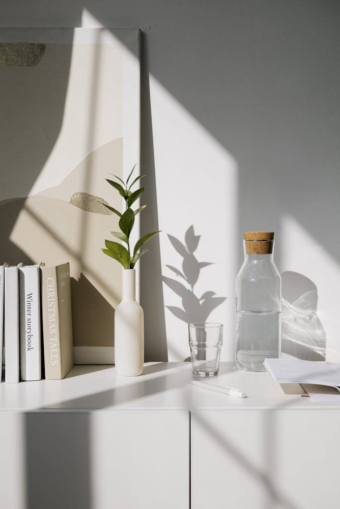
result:
[[[339,288],[340,266],[327,248],[313,238],[299,223],[284,215],[281,222],[281,273],[282,291],[298,297],[303,276],[307,290],[311,284],[317,288],[316,312],[326,333],[326,360],[340,362]],[[289,288],[284,288],[284,277],[290,273]],[[292,275],[292,273],[295,273]],[[287,280],[288,281],[288,280]],[[309,285],[309,286],[308,286]],[[303,286],[303,284],[302,284]]]

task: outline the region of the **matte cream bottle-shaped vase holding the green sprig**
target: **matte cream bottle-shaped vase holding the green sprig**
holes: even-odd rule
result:
[[[115,366],[118,375],[136,377],[144,364],[144,313],[136,301],[136,271],[122,271],[122,300],[115,311]]]

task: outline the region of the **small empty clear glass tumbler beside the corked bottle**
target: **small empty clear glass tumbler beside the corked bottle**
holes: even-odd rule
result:
[[[218,374],[223,325],[195,322],[189,324],[189,346],[193,374],[213,377]]]

